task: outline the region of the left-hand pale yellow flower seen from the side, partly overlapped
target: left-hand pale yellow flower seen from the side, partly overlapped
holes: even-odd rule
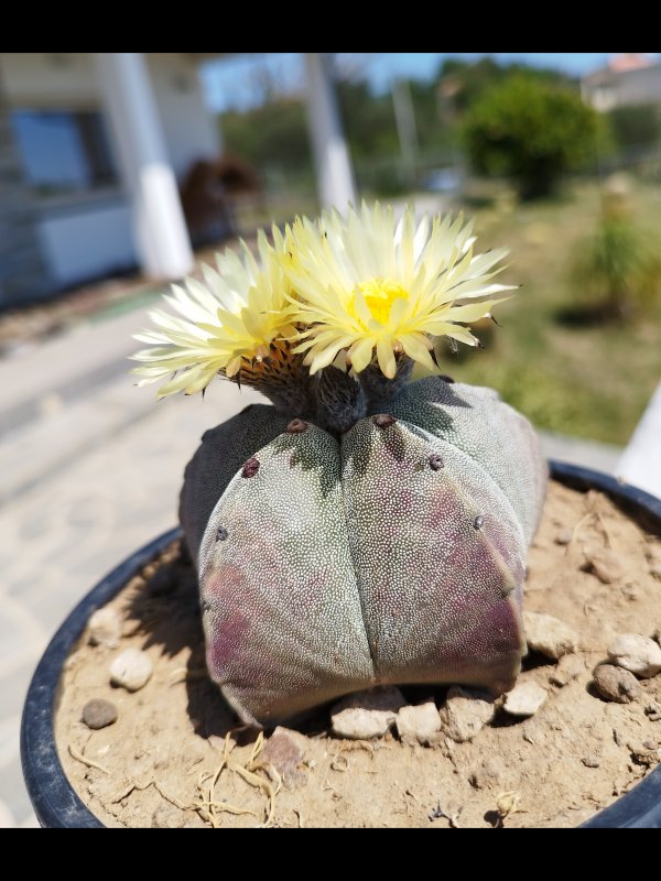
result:
[[[187,279],[185,289],[173,285],[167,303],[178,313],[150,313],[155,330],[134,338],[150,344],[132,356],[143,362],[133,373],[144,385],[172,377],[159,389],[159,398],[204,390],[217,373],[251,384],[259,366],[270,355],[289,350],[295,334],[282,270],[285,243],[273,229],[275,247],[263,232],[258,238],[259,262],[241,242],[240,257],[226,250],[216,258],[218,271],[203,267],[204,283]],[[257,372],[256,372],[257,371]]]

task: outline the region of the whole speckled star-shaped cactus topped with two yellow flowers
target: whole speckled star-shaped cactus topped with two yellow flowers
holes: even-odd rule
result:
[[[214,681],[272,725],[386,683],[513,685],[546,468],[489,389],[432,376],[438,342],[511,289],[470,226],[362,206],[296,220],[188,280],[139,338],[143,382],[262,391],[205,434],[180,515]],[[172,378],[172,374],[174,377]]]

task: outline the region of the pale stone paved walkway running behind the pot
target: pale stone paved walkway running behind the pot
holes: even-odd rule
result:
[[[259,400],[216,382],[156,404],[126,356],[136,311],[0,362],[0,827],[35,825],[19,760],[34,665],[75,602],[175,523],[185,463],[207,428]],[[614,470],[620,450],[546,438],[550,455]]]

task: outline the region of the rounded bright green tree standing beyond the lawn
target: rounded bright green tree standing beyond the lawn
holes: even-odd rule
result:
[[[535,198],[588,163],[599,128],[597,113],[576,91],[516,73],[475,102],[463,132],[478,173],[510,176],[522,198]]]

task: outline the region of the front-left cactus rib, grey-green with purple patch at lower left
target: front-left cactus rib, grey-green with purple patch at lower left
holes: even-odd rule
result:
[[[259,459],[259,479],[237,474],[216,505],[199,578],[212,677],[242,719],[271,724],[365,687],[373,668],[337,442],[310,425]],[[227,542],[213,541],[219,523]]]

